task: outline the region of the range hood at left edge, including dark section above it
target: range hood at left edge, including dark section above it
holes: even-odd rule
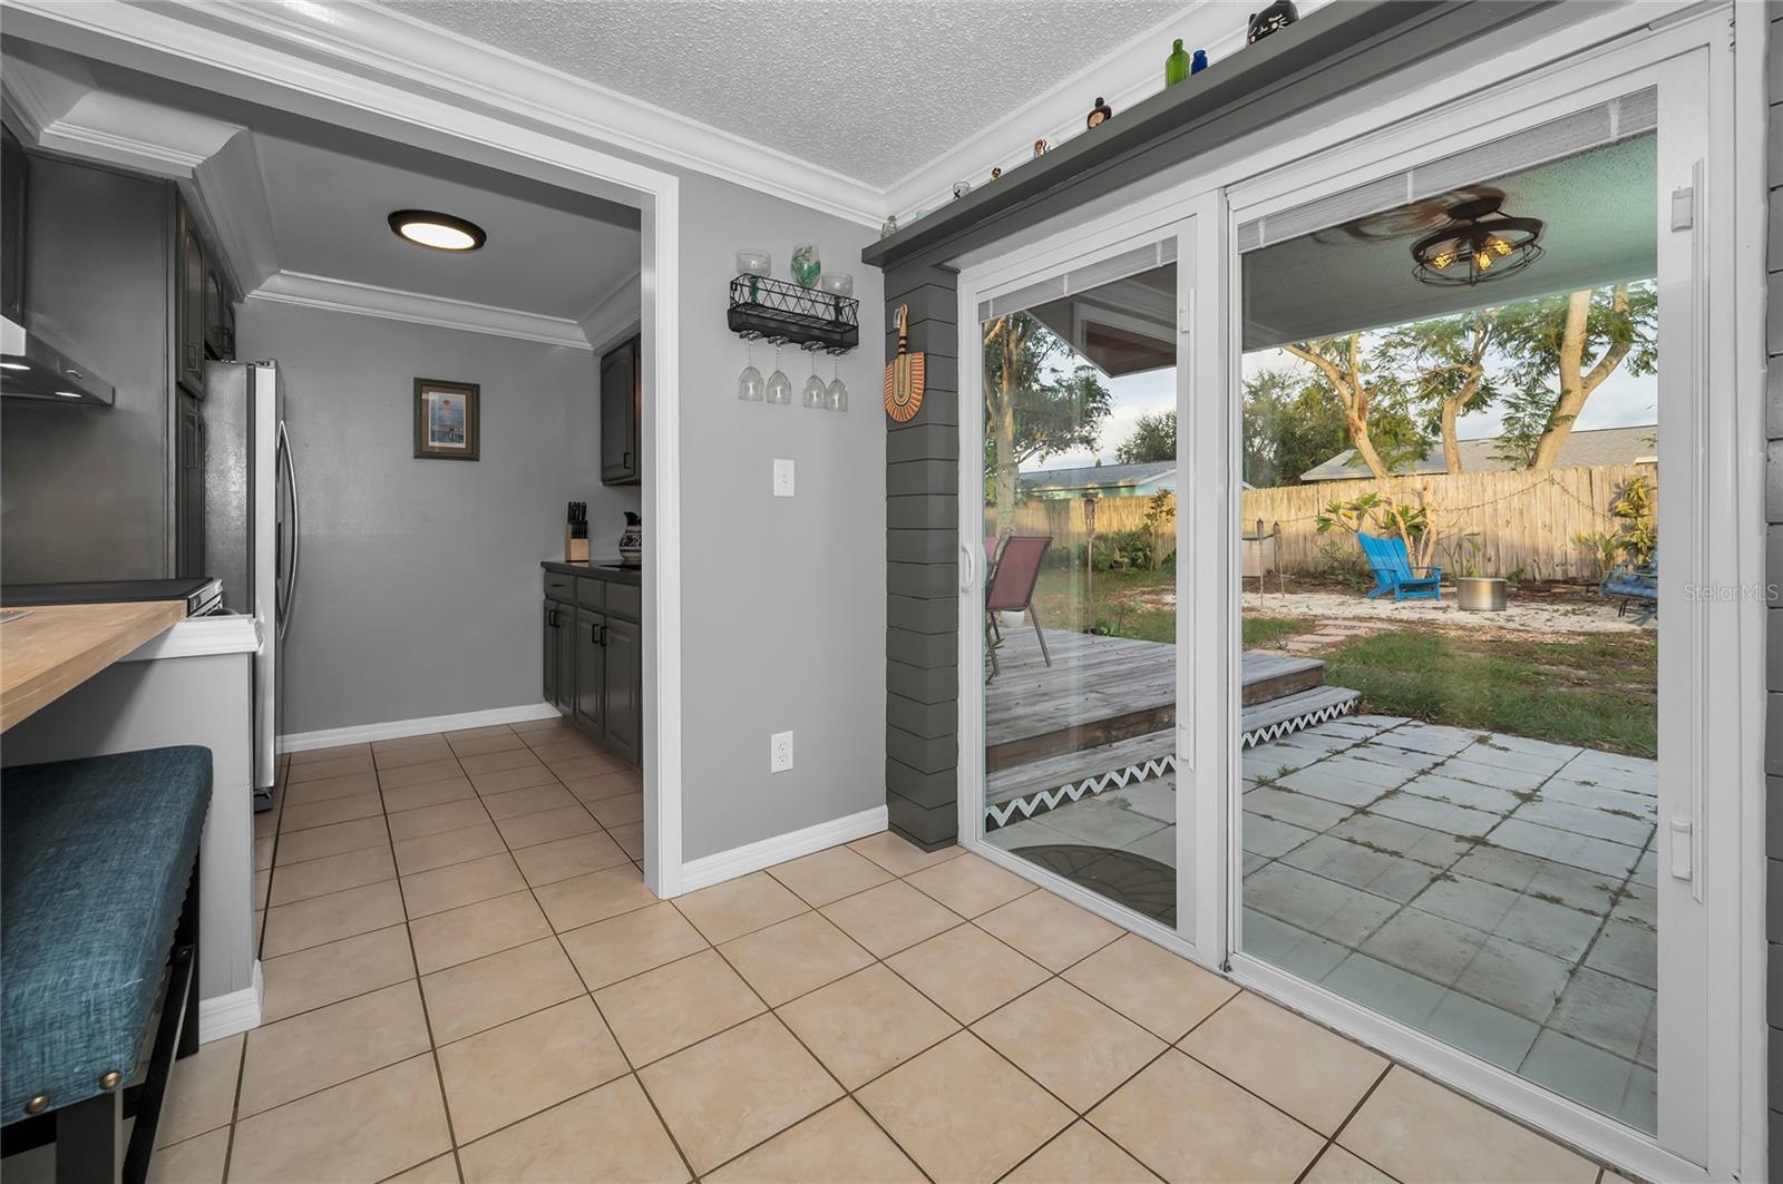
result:
[[[25,328],[25,218],[30,159],[4,128],[0,162],[0,396],[71,407],[111,407],[118,392],[93,371]]]

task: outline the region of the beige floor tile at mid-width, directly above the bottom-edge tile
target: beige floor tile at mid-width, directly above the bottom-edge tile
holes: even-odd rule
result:
[[[950,1015],[879,965],[781,1006],[779,1016],[849,1089],[959,1031]]]

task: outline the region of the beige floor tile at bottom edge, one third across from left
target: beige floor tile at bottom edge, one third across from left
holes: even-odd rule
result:
[[[669,1132],[629,1075],[478,1139],[458,1157],[467,1184],[688,1179]]]

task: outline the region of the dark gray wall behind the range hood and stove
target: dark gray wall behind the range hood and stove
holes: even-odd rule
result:
[[[30,159],[32,332],[118,389],[100,407],[0,399],[0,572],[7,583],[168,572],[171,189]]]

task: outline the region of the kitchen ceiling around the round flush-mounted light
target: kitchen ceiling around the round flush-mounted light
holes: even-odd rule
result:
[[[576,319],[638,269],[635,226],[264,132],[257,150],[285,271]],[[489,243],[412,246],[387,223],[399,209],[469,218]]]

